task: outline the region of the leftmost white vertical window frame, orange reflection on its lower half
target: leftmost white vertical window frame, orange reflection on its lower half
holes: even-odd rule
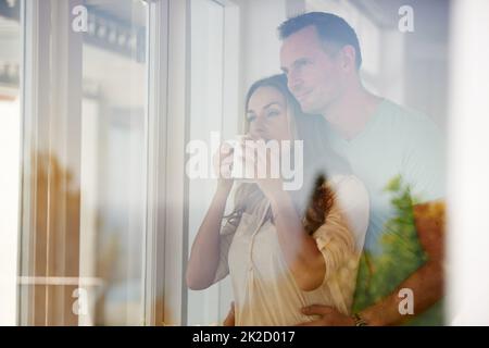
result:
[[[79,181],[80,147],[79,139],[70,139],[76,144],[71,149],[63,148],[67,138],[53,135],[66,133],[65,128],[80,128],[82,100],[82,37],[75,35],[70,27],[70,9],[82,4],[82,0],[68,0],[53,3],[51,1],[23,0],[21,4],[22,30],[23,30],[23,73],[22,73],[22,164],[21,181],[21,224],[18,233],[18,301],[17,324],[21,325],[73,325],[78,319],[66,311],[66,303],[71,301],[71,293],[66,288],[61,291],[55,288],[58,276],[51,276],[54,272],[54,249],[46,246],[46,256],[42,246],[37,244],[37,198],[40,195],[51,194],[49,185],[39,186],[37,170],[40,161],[40,152],[46,151],[50,157],[58,156],[63,163],[70,163],[75,181]],[[51,33],[52,28],[52,33]],[[49,47],[50,35],[55,36],[57,54],[50,62],[50,57],[45,47]],[[57,66],[51,70],[50,66]],[[47,87],[48,86],[48,87]],[[49,104],[49,100],[55,100],[55,107]],[[70,119],[63,117],[70,115]],[[60,133],[58,133],[60,132]],[[76,134],[76,133],[75,133]],[[30,175],[36,173],[36,175]],[[51,181],[51,178],[48,178]],[[68,175],[62,175],[61,185],[66,185]],[[60,197],[59,197],[60,198]],[[64,217],[64,232],[60,234],[59,245],[63,247],[62,254],[66,256],[66,249],[77,252],[72,245],[66,244],[66,212],[70,209],[79,208],[79,197],[70,204],[65,201],[61,204]],[[48,207],[48,210],[50,207]],[[54,222],[43,219],[46,231],[49,234]],[[54,227],[53,227],[54,228]],[[62,231],[61,226],[57,226]],[[75,236],[79,238],[79,223]],[[58,247],[58,245],[57,245]],[[71,250],[72,248],[73,250]],[[78,260],[79,261],[79,260]],[[77,288],[79,279],[79,264],[74,270],[66,270],[63,264],[63,273],[72,275],[67,286]],[[42,270],[45,268],[45,270]],[[37,277],[36,270],[46,272],[45,276]],[[43,273],[39,272],[39,273]],[[23,288],[23,285],[26,288]],[[36,288],[33,289],[35,285]],[[54,288],[53,288],[54,286]],[[40,287],[40,288],[39,288]],[[43,288],[42,288],[43,287]],[[60,296],[61,295],[61,296]],[[45,306],[40,306],[42,298]],[[71,309],[71,307],[70,307]],[[41,312],[41,313],[39,313]],[[61,315],[60,315],[61,313]],[[43,319],[42,319],[43,318]]]

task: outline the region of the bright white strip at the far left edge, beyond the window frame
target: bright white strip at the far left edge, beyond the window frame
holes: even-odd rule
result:
[[[21,61],[20,25],[0,16],[0,63]],[[0,85],[0,325],[15,325],[21,156],[18,89]]]

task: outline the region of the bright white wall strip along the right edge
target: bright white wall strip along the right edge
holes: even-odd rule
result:
[[[489,1],[452,11],[449,323],[489,325]]]

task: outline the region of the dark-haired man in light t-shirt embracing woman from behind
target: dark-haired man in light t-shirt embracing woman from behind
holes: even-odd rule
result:
[[[363,87],[359,40],[341,17],[321,12],[302,14],[283,23],[279,35],[280,63],[290,91],[304,112],[324,116],[325,139],[350,162],[353,174],[364,182],[371,196],[364,247],[367,257],[359,272],[366,281],[359,278],[356,291],[358,298],[367,293],[369,297],[363,306],[359,300],[352,316],[325,306],[304,308],[308,315],[321,315],[309,324],[396,325],[422,318],[443,295],[443,151],[436,126],[429,119]],[[389,183],[390,189],[386,189]],[[406,210],[401,198],[414,203]],[[404,219],[405,225],[399,225],[400,212],[413,217],[421,251],[402,240],[408,238],[402,233],[409,231],[405,225],[410,222]],[[394,241],[398,249],[386,244],[386,235],[396,229],[401,231],[400,239]],[[402,253],[409,257],[389,262],[389,258]],[[405,260],[412,256],[417,259],[406,268],[411,261]],[[381,272],[388,275],[383,278]],[[377,290],[373,288],[384,290],[374,294]],[[440,313],[425,323],[442,324]]]

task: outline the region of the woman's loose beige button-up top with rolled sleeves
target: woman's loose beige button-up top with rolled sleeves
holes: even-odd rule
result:
[[[314,234],[326,261],[323,284],[302,291],[289,271],[277,232],[265,220],[266,198],[243,212],[237,223],[227,222],[221,233],[221,261],[214,282],[231,277],[236,325],[294,325],[312,321],[300,309],[327,304],[349,314],[355,288],[360,252],[368,225],[368,196],[354,176],[334,176],[335,191],[326,222]]]

